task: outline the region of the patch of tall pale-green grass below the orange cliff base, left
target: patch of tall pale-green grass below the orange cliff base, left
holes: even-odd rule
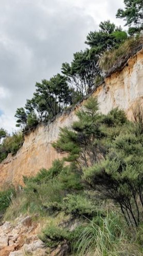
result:
[[[20,214],[37,214],[45,216],[47,202],[60,203],[63,192],[57,180],[49,180],[48,183],[30,183],[23,191],[18,191],[16,197],[12,198],[10,206],[7,208],[4,220],[14,220]]]

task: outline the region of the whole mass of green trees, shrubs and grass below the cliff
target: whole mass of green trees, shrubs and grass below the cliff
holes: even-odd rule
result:
[[[73,255],[142,255],[142,110],[134,122],[117,108],[102,115],[90,97],[77,116],[54,144],[66,159],[24,177],[4,220],[47,219],[40,238],[51,250],[66,244]]]

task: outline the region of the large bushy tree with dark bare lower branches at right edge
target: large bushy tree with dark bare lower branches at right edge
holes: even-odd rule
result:
[[[128,121],[122,126],[105,159],[86,169],[83,177],[102,198],[119,204],[128,224],[135,226],[143,210],[143,121],[139,115],[134,124]]]

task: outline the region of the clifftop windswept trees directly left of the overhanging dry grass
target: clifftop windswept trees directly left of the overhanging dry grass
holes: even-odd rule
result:
[[[126,32],[109,20],[101,22],[99,27],[99,31],[91,31],[87,36],[85,43],[90,49],[74,53],[71,64],[62,64],[62,73],[67,77],[72,88],[82,96],[96,88],[101,80],[101,70],[98,65],[101,54],[105,50],[118,47],[127,38]]]

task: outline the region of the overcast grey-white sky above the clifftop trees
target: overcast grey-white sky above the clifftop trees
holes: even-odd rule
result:
[[[15,111],[32,97],[35,82],[86,48],[87,34],[101,21],[124,25],[118,8],[123,0],[0,1],[0,127],[15,129]]]

